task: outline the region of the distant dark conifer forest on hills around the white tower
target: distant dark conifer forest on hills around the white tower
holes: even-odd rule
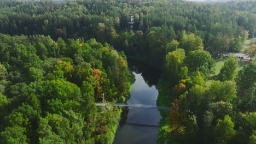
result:
[[[243,4],[252,9],[255,1]],[[231,4],[230,4],[231,5]],[[168,43],[195,33],[209,52],[237,52],[247,37],[256,35],[253,11],[229,9],[232,5],[185,1],[34,1],[0,2],[0,32],[44,34],[53,39],[96,38],[126,55],[154,65],[164,63]],[[126,30],[129,14],[135,15],[135,32]],[[183,48],[183,47],[182,47]],[[136,53],[136,55],[135,55]]]

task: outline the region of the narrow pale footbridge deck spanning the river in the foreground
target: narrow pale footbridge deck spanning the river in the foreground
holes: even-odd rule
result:
[[[96,103],[97,106],[105,106],[103,103]],[[122,103],[111,103],[112,106],[122,106],[122,107],[141,107],[147,109],[161,109],[161,110],[171,110],[171,107],[167,106],[154,106],[154,105],[142,105],[142,104],[122,104]]]

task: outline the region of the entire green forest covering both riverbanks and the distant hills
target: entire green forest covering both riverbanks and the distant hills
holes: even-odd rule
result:
[[[255,143],[256,63],[237,73],[230,55],[211,77],[214,53],[256,37],[255,5],[0,1],[0,143],[112,143],[121,109],[95,101],[127,100],[126,56],[161,68],[160,95],[171,93],[158,143]]]

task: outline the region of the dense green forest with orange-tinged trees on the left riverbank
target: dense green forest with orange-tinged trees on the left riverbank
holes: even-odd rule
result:
[[[126,57],[95,39],[0,34],[0,143],[111,143],[133,77]]]

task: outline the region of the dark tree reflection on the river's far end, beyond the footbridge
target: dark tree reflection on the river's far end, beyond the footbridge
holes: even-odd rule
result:
[[[142,75],[144,81],[149,87],[152,87],[158,83],[158,79],[161,75],[160,69],[133,59],[128,59],[128,65],[131,71],[135,71],[136,74]]]

